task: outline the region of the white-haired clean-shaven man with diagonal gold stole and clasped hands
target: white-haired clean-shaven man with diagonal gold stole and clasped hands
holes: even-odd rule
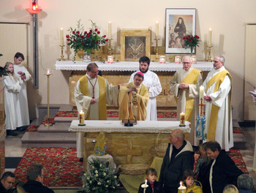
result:
[[[199,87],[203,84],[201,71],[191,67],[192,58],[184,56],[183,68],[178,69],[170,80],[170,91],[177,102],[177,120],[180,113],[185,113],[185,121],[191,123],[189,142],[192,145],[199,145],[196,139],[195,118],[198,115],[198,93]]]

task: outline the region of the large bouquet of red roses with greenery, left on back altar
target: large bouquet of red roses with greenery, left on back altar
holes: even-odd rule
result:
[[[100,45],[104,45],[108,42],[108,39],[105,39],[106,35],[100,36],[100,31],[96,25],[91,20],[91,28],[89,31],[84,31],[83,24],[80,23],[81,20],[78,20],[77,28],[68,29],[69,35],[67,35],[67,45],[70,45],[70,48],[73,48],[75,52],[78,52],[79,49],[85,50],[87,53],[91,53],[91,50],[99,50]]]

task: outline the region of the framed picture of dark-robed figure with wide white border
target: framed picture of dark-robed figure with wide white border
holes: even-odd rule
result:
[[[166,9],[165,53],[190,53],[184,48],[187,35],[195,36],[195,9]]]

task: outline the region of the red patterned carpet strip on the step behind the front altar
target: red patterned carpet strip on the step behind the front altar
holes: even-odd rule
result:
[[[56,113],[56,117],[77,117],[78,112],[76,111],[58,111]],[[118,111],[117,110],[108,110],[107,111],[107,117],[118,117]],[[177,113],[176,112],[164,112],[159,111],[157,112],[158,118],[176,118]]]

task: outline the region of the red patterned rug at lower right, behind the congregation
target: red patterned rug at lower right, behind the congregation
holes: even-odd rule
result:
[[[230,151],[227,152],[227,155],[230,156],[230,158],[235,162],[236,167],[238,167],[243,173],[249,174],[246,164],[244,163],[243,156],[241,155],[241,152],[238,149],[230,149]],[[195,165],[197,164],[197,159],[199,157],[199,152],[195,152]]]

